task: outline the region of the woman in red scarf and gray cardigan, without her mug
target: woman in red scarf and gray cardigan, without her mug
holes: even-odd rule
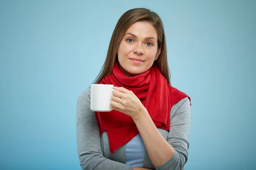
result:
[[[190,98],[170,85],[160,17],[131,9],[113,31],[96,84],[113,84],[111,112],[90,110],[90,89],[77,101],[83,170],[182,170],[188,158]]]

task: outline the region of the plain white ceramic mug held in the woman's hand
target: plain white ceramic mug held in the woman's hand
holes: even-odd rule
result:
[[[111,97],[113,96],[114,85],[90,85],[90,109],[92,111],[112,111],[110,106]]]

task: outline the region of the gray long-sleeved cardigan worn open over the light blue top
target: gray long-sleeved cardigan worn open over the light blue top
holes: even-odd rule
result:
[[[76,108],[77,148],[82,170],[133,170],[125,164],[125,145],[110,153],[107,132],[99,133],[95,113],[90,110],[90,88],[83,91]],[[170,131],[158,128],[164,139],[175,149],[174,156],[165,164],[154,166],[147,152],[144,168],[182,170],[188,159],[190,130],[190,101],[184,98],[172,106]]]

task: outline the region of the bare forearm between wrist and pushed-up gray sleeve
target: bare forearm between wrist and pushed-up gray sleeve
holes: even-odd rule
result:
[[[160,166],[172,158],[175,153],[174,148],[157,130],[157,127],[146,110],[139,117],[134,118],[134,122],[154,166]]]

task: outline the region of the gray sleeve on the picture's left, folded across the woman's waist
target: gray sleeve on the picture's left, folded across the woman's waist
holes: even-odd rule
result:
[[[76,106],[76,135],[82,170],[132,170],[133,167],[103,156],[99,126],[90,110],[89,89],[79,95]]]

